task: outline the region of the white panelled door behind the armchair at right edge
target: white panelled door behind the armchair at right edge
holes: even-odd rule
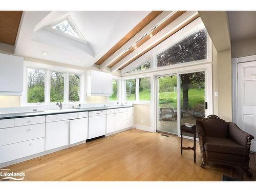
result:
[[[256,61],[238,64],[238,126],[256,138]],[[256,139],[251,151],[256,152]]]

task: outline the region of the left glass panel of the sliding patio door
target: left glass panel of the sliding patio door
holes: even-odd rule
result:
[[[157,77],[157,130],[178,134],[177,75]]]

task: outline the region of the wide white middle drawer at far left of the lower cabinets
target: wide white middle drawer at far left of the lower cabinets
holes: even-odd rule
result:
[[[0,130],[0,146],[45,137],[45,123]]]

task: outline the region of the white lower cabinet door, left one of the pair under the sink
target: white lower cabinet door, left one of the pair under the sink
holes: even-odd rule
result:
[[[69,144],[69,121],[46,123],[46,151]]]

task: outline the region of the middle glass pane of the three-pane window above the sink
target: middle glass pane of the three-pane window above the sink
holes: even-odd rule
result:
[[[56,71],[51,71],[50,77],[51,77],[50,101],[63,102],[64,101],[64,74]]]

